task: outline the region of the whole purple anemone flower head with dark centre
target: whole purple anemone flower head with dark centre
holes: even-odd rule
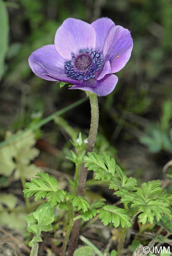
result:
[[[121,70],[130,59],[130,31],[109,18],[88,24],[68,18],[58,28],[54,45],[45,45],[29,56],[39,77],[73,84],[69,89],[91,91],[99,96],[113,91]]]

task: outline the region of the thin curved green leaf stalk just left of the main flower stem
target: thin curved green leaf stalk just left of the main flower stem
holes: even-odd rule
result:
[[[66,231],[66,236],[65,236],[65,238],[64,238],[61,256],[64,256],[64,255],[65,255],[66,246],[67,246],[68,239],[69,239],[69,236],[70,236],[70,233],[71,233],[71,230],[72,230],[72,227],[73,227],[73,223],[74,223],[74,220],[73,220],[73,211],[72,211],[72,207],[71,207],[71,202],[69,202],[69,201],[66,200],[66,204],[67,204],[67,206],[68,206],[69,217],[70,217],[70,223],[69,223],[69,225],[68,225],[68,228],[67,228],[67,231]]]

